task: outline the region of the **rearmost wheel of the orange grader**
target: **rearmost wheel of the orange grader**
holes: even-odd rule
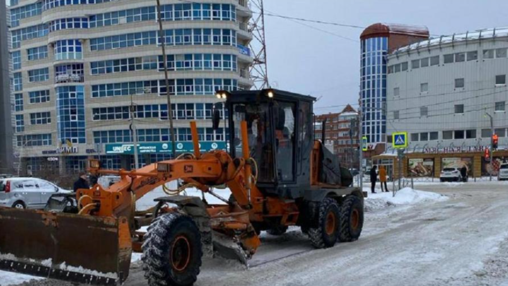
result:
[[[363,228],[363,203],[357,196],[347,196],[340,208],[340,242],[355,241]]]

